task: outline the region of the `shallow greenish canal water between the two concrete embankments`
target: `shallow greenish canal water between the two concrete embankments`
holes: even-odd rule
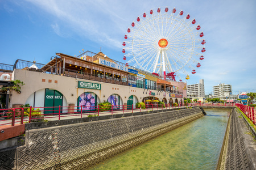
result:
[[[207,116],[92,169],[216,169],[230,111],[205,109]]]

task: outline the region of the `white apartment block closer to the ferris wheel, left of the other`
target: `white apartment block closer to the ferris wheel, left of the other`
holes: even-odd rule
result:
[[[204,80],[199,80],[198,84],[188,85],[187,95],[192,98],[204,98]]]

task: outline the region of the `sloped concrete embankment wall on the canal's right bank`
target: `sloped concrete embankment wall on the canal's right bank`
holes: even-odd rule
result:
[[[255,130],[238,111],[233,109],[217,169],[256,169]]]

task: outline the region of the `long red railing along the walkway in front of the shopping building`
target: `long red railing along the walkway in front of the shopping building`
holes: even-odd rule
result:
[[[196,107],[196,106],[234,106],[234,104],[146,104],[146,105],[109,105],[109,106],[90,106],[90,107],[30,107],[0,109],[0,126],[30,123],[39,120],[64,120],[68,118],[82,118],[87,116],[100,116],[108,114],[125,114],[143,111],[163,111],[164,109]]]

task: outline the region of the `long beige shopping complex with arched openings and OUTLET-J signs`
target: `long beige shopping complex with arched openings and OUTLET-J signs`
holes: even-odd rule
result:
[[[30,104],[92,109],[109,101],[116,109],[126,109],[146,100],[181,104],[187,97],[186,83],[164,80],[102,52],[87,51],[77,57],[56,53],[47,64],[17,59],[13,66],[0,64],[0,71],[9,71],[12,80],[25,83],[21,93],[11,92],[12,108]]]

